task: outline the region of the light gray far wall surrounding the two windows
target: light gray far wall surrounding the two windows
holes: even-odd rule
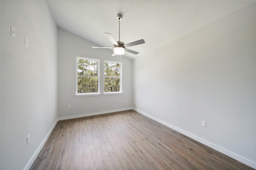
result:
[[[102,34],[102,38],[104,35]],[[126,57],[122,62],[123,94],[75,97],[76,57],[100,60],[100,92],[104,92],[104,60],[118,61],[109,49],[94,49],[96,44],[58,28],[58,111],[59,117],[72,117],[94,113],[106,113],[132,107],[132,61]],[[127,100],[127,103],[126,103]],[[68,105],[71,106],[68,109]]]

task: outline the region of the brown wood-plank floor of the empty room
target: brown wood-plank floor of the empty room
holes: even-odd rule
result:
[[[129,110],[58,121],[30,170],[253,170]]]

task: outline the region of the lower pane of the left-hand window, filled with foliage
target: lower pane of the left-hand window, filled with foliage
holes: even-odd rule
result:
[[[98,77],[78,77],[77,93],[98,92]]]

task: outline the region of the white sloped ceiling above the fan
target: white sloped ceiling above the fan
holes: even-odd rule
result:
[[[107,47],[112,43],[103,33],[111,33],[118,41],[116,15],[122,14],[120,41],[144,39],[146,42],[129,47],[140,52],[138,55],[125,52],[126,57],[134,59],[254,2],[50,0],[48,4],[58,27]]]

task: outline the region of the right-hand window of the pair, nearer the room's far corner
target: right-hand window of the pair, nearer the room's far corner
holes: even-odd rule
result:
[[[122,63],[104,61],[104,93],[122,93]]]

